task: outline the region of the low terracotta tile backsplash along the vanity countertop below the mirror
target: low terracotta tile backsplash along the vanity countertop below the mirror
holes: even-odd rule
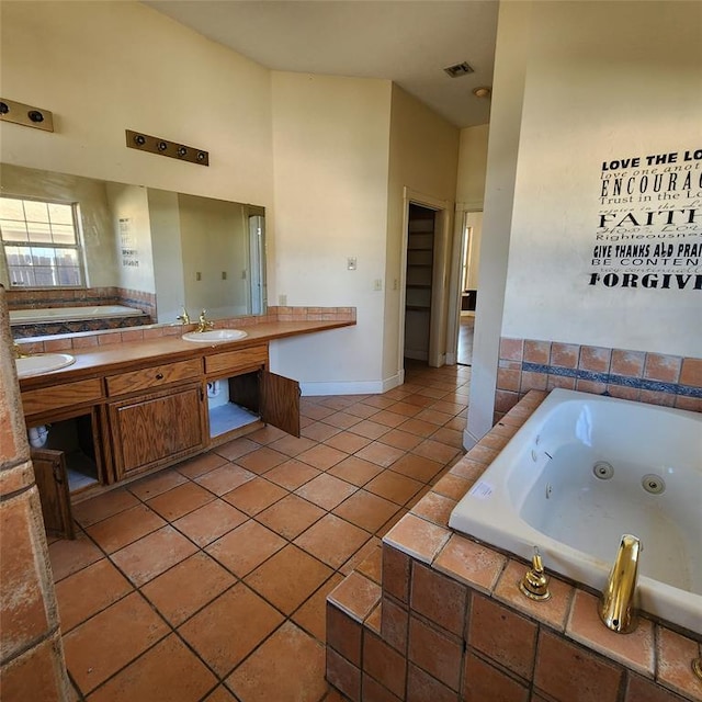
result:
[[[269,307],[265,315],[231,317],[216,319],[215,328],[242,329],[256,325],[274,321],[354,321],[355,307]],[[53,351],[70,351],[71,349],[88,349],[113,343],[145,341],[162,337],[180,337],[185,331],[192,331],[196,325],[183,326],[151,325],[141,328],[112,329],[104,331],[87,331],[75,335],[55,335],[18,339],[23,351],[27,353],[47,353]]]

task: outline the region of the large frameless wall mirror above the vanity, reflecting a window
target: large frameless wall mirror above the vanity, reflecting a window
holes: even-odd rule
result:
[[[0,195],[0,284],[15,338],[172,324],[183,307],[265,314],[261,206],[7,163]],[[22,202],[31,216],[19,223]],[[65,233],[52,240],[54,203],[73,206],[75,250]],[[42,207],[47,222],[35,222]],[[61,261],[76,256],[81,273],[67,279]]]

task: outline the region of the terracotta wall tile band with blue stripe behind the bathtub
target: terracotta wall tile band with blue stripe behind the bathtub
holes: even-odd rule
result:
[[[702,359],[559,341],[500,340],[496,419],[529,390],[555,387],[702,411]]]

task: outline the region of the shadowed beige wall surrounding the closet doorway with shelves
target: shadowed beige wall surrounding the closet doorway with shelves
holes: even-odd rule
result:
[[[400,309],[404,298],[400,288],[405,276],[401,269],[406,247],[404,191],[409,189],[443,203],[449,216],[445,234],[450,237],[456,193],[457,158],[458,129],[401,88],[393,86],[387,188],[384,380],[395,377],[401,367],[399,328],[400,316],[404,315],[404,309]],[[448,239],[443,242],[445,269],[440,276],[440,286],[444,288],[448,285],[450,270],[450,244]],[[440,320],[440,327],[445,335],[445,317]],[[445,348],[442,348],[441,352],[445,353]]]

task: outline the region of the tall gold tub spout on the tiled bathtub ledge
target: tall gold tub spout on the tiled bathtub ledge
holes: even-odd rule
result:
[[[643,546],[637,536],[632,534],[622,536],[607,586],[602,590],[600,619],[604,626],[618,634],[629,634],[636,629],[634,600],[638,577],[638,556],[642,550]]]

